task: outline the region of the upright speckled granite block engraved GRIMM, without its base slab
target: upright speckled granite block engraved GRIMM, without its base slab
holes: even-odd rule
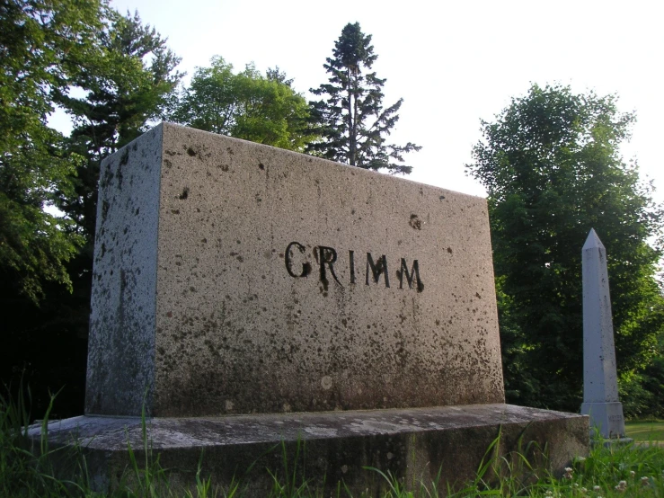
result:
[[[87,414],[504,400],[485,200],[169,124],[101,185]]]

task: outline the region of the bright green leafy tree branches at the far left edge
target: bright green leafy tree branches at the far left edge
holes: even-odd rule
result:
[[[55,191],[71,191],[80,157],[47,118],[89,53],[101,9],[71,0],[0,5],[0,274],[34,303],[45,281],[71,288],[65,263],[80,240],[43,209]]]

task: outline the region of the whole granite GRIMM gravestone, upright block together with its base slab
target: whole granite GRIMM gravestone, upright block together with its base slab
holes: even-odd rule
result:
[[[553,470],[588,447],[588,417],[504,405],[485,200],[170,124],[102,163],[86,416],[51,438],[112,476],[143,408],[221,483],[279,441],[351,489],[472,478],[501,427]]]

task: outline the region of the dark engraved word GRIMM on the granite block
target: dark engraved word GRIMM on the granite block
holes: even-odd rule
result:
[[[298,256],[297,253],[304,254],[305,246],[299,242],[291,242],[286,247],[286,252],[284,253],[284,261],[286,262],[286,271],[288,275],[294,279],[299,279],[302,277],[307,277],[312,272],[311,262],[306,261],[305,257]],[[328,247],[326,245],[316,245],[314,247],[314,257],[318,264],[318,278],[323,282],[323,284],[328,283],[328,273],[332,276],[332,279],[337,282],[337,284],[343,287],[341,281],[337,277],[337,273],[334,271],[334,264],[337,262],[337,250],[333,247]],[[355,252],[349,250],[348,252],[349,259],[349,273],[350,273],[350,283],[357,283],[356,279],[356,265],[355,265]],[[297,260],[297,263],[294,261]],[[304,261],[302,261],[304,260]],[[378,283],[383,278],[385,282],[385,288],[390,287],[390,277],[389,272],[387,271],[387,257],[385,254],[382,254],[377,259],[367,253],[367,264],[365,265],[365,285],[370,285],[370,281],[373,280],[374,283]],[[411,268],[409,270],[408,263],[405,258],[401,258],[401,267],[399,271],[396,272],[396,276],[399,279],[399,289],[403,289],[403,280],[405,278],[406,283],[408,284],[408,289],[417,289],[418,292],[424,290],[424,284],[420,279],[420,263],[418,260],[413,260]]]

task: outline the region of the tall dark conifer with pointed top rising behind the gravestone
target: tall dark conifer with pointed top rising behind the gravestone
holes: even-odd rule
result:
[[[329,83],[311,89],[324,96],[310,102],[323,139],[310,144],[307,152],[360,168],[411,173],[412,166],[403,165],[403,154],[421,147],[411,142],[405,146],[385,143],[399,120],[403,99],[384,108],[385,79],[369,72],[378,58],[371,35],[360,30],[359,22],[347,24],[332,56],[323,64],[331,75]]]

